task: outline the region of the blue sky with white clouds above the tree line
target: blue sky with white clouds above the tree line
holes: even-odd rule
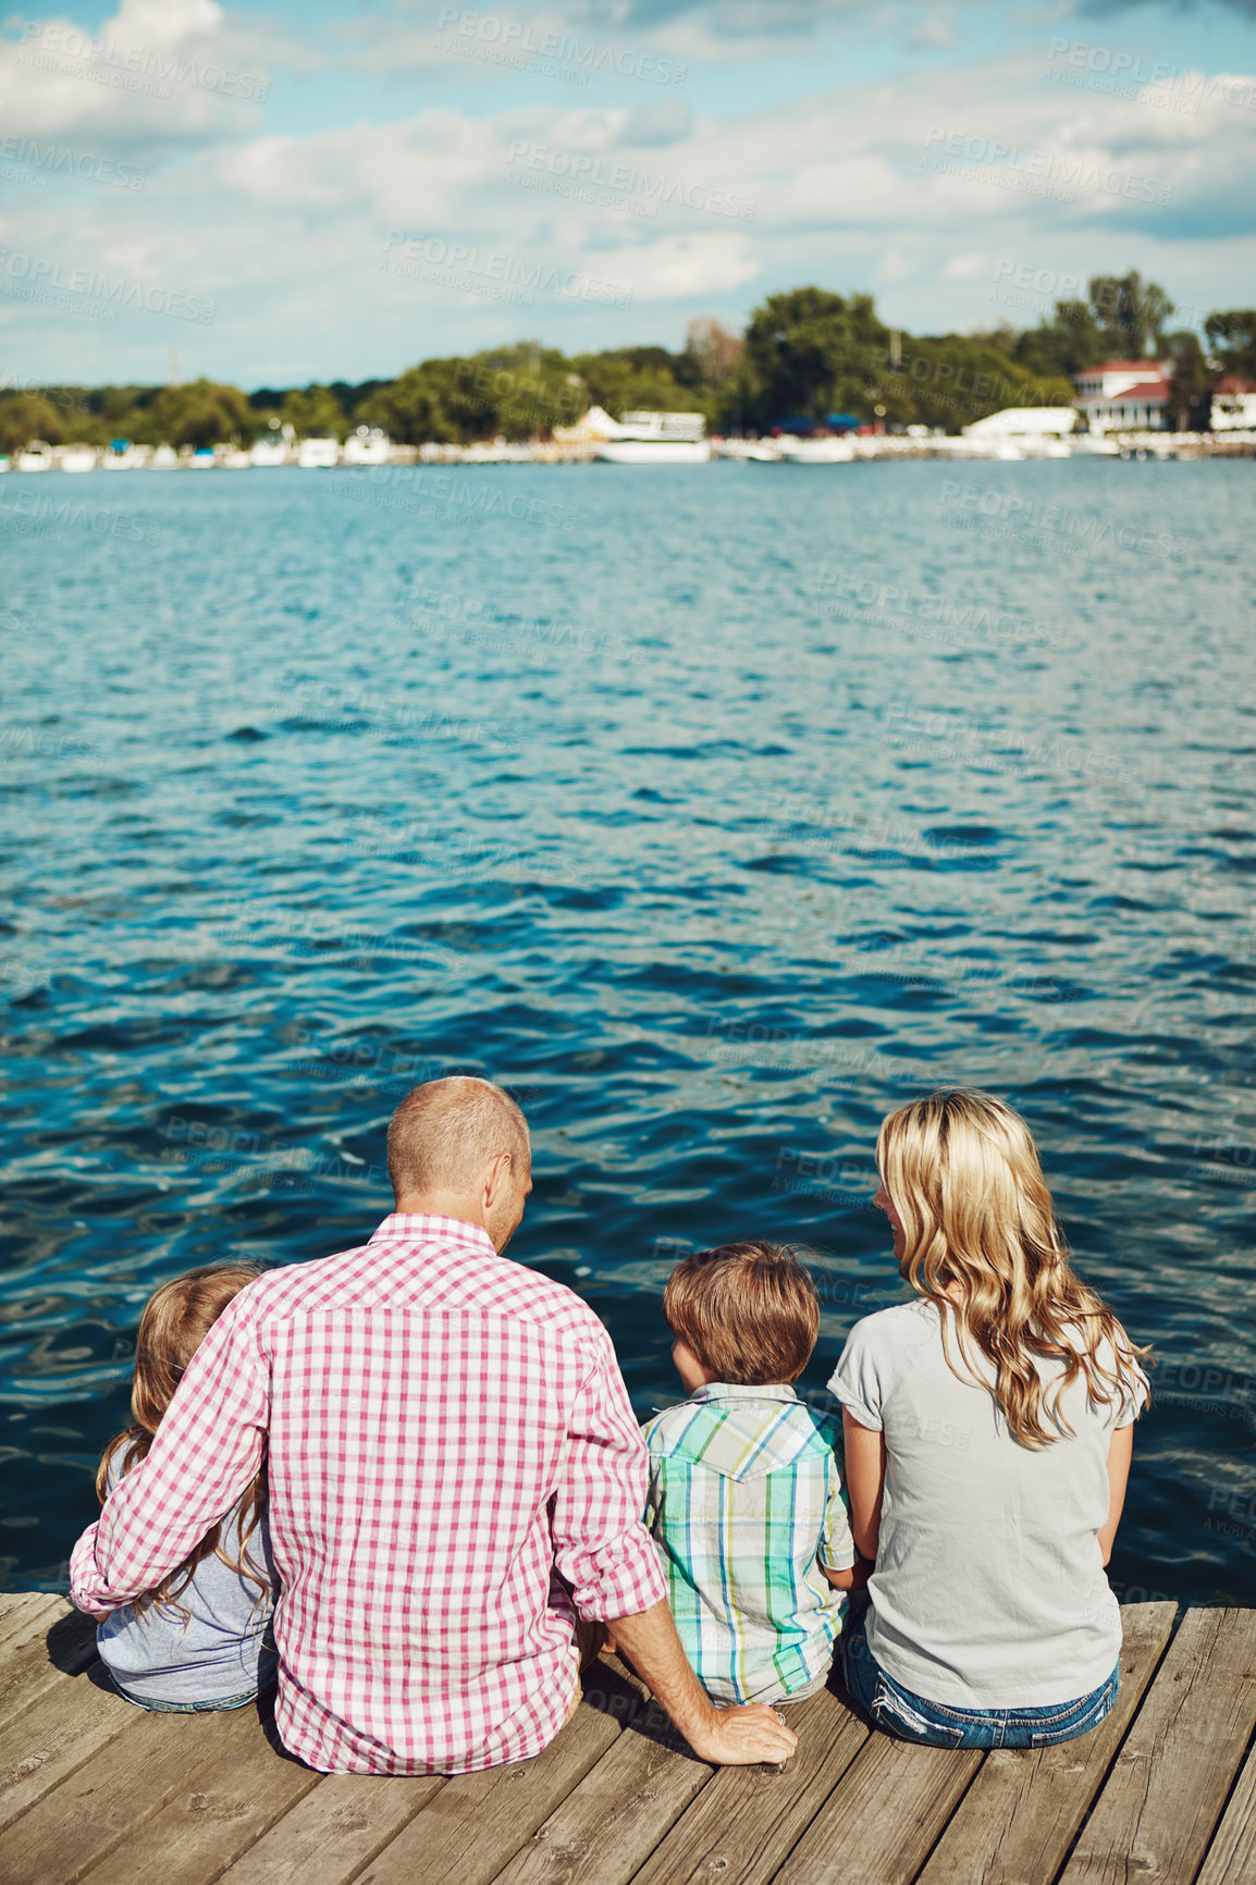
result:
[[[0,26],[0,381],[390,379],[768,294],[1256,305],[1254,0],[121,0]]]

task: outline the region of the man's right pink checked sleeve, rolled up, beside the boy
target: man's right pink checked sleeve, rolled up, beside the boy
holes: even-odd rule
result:
[[[658,1551],[641,1523],[645,1438],[609,1336],[571,1408],[562,1468],[551,1517],[554,1565],[581,1617],[605,1623],[666,1602]]]

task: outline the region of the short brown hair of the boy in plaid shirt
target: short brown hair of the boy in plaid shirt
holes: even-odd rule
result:
[[[796,1382],[820,1333],[820,1299],[788,1244],[720,1244],[685,1257],[664,1316],[717,1382]]]

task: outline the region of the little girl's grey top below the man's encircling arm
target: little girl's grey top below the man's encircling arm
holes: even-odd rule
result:
[[[123,1448],[109,1459],[109,1491],[117,1485]],[[240,1561],[240,1508],[223,1521],[223,1549]],[[270,1576],[266,1519],[249,1538],[249,1557]],[[175,1585],[179,1580],[175,1578]],[[166,1604],[123,1604],[96,1629],[100,1661],[123,1695],[138,1702],[230,1702],[258,1685],[273,1651],[266,1629],[273,1597],[223,1563],[206,1557],[175,1602],[187,1619]]]

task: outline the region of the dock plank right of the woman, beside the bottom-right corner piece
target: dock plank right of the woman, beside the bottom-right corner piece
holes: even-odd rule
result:
[[[1064,1872],[1194,1879],[1256,1727],[1256,1612],[1190,1610]]]

